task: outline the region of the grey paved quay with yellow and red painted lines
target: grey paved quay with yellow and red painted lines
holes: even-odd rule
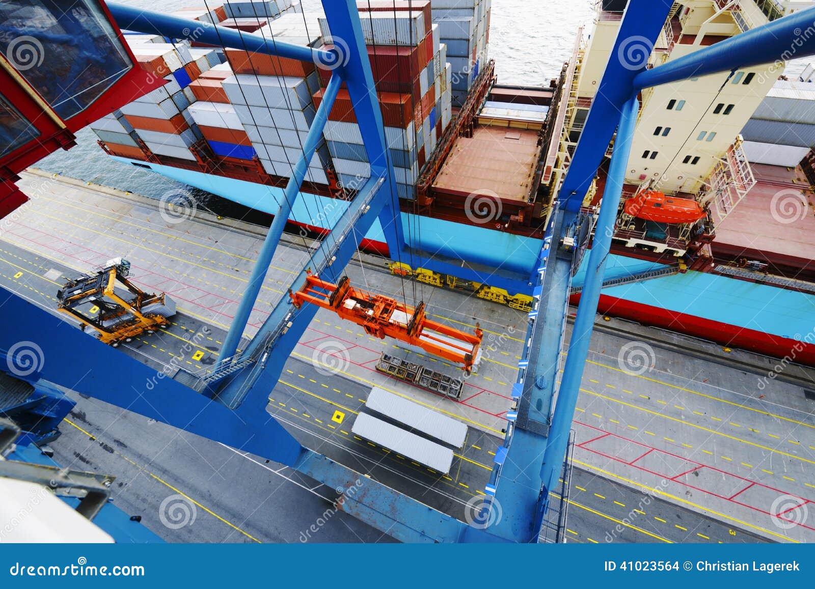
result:
[[[156,211],[156,201],[67,178],[24,174],[20,187],[32,200],[7,219],[0,235],[4,288],[56,313],[54,294],[64,276],[111,257],[127,257],[136,284],[168,292],[178,301],[179,312],[165,332],[123,345],[122,352],[156,370],[170,361],[193,368],[214,363],[261,243],[261,228],[218,221],[200,211],[195,218],[169,223]],[[253,326],[265,319],[287,281],[307,262],[302,243],[293,238],[278,248],[253,310]],[[347,274],[362,288],[376,284],[377,291],[408,301],[416,288],[415,296],[427,302],[434,319],[458,328],[469,329],[479,321],[486,345],[478,374],[467,381],[459,401],[391,380],[372,366],[383,350],[437,370],[455,369],[434,358],[418,358],[392,341],[372,339],[320,310],[270,392],[266,410],[311,449],[462,517],[465,503],[487,482],[500,443],[525,316],[465,293],[402,284],[375,257],[359,257]],[[643,329],[663,338],[662,332]],[[198,341],[193,336],[199,332],[206,343],[185,356],[183,346]],[[705,359],[669,343],[645,345],[653,354],[652,366],[640,374],[622,370],[620,358],[632,341],[642,343],[641,337],[608,331],[593,337],[575,413],[568,541],[815,540],[815,526],[782,529],[773,525],[768,512],[770,503],[784,494],[802,501],[815,495],[815,421],[812,402],[800,386],[769,380],[763,397],[756,398],[751,391],[766,370],[760,358],[744,354],[755,363],[754,371],[729,367],[717,362],[722,353],[715,345],[707,346]],[[350,427],[372,385],[468,425],[465,447],[456,453],[449,476],[355,439]],[[146,423],[94,399],[77,397],[77,402],[62,426],[64,435],[53,444],[55,457],[66,466],[116,474],[117,504],[143,516],[143,525],[163,538],[297,542],[300,531],[332,498],[332,490],[280,464]],[[161,525],[159,508],[179,491],[202,509],[196,525],[170,530]],[[623,531],[614,532],[615,525]],[[382,538],[338,514],[324,531],[307,539]]]

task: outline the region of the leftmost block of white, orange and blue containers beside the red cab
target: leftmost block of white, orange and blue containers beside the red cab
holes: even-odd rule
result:
[[[187,111],[197,100],[189,86],[201,73],[219,63],[218,55],[212,50],[191,49],[183,43],[140,42],[142,39],[130,36],[126,41],[139,64],[156,77],[163,77],[167,83],[123,106],[121,118],[114,115],[117,123],[128,131],[130,141],[110,135],[119,131],[113,129],[109,117],[104,123],[108,127],[95,129],[96,134],[108,149],[120,155],[143,157],[142,147],[146,147],[156,155],[196,161],[191,148],[203,135]],[[130,149],[123,150],[122,147]]]

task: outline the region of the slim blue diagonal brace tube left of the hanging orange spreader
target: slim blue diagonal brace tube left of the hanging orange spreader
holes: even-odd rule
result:
[[[235,356],[240,338],[244,334],[246,323],[249,321],[249,314],[252,312],[255,301],[258,300],[258,292],[260,292],[263,286],[263,280],[266,279],[277,244],[280,242],[280,237],[283,235],[286,223],[289,222],[292,205],[300,192],[300,185],[303,182],[303,178],[306,178],[306,170],[308,169],[309,162],[314,156],[317,144],[323,140],[325,122],[328,121],[328,113],[331,112],[334,100],[337,99],[337,93],[340,91],[341,84],[342,79],[340,75],[334,72],[328,81],[328,86],[323,95],[323,101],[319,104],[317,113],[314,116],[314,121],[311,123],[311,128],[306,135],[306,141],[303,142],[302,154],[297,160],[297,164],[294,165],[293,174],[292,177],[289,178],[289,183],[286,184],[286,188],[283,192],[283,201],[280,203],[280,210],[278,210],[274,220],[271,222],[266,240],[263,241],[262,248],[258,253],[258,259],[252,268],[252,275],[249,276],[249,282],[246,284],[244,296],[240,299],[235,318],[232,319],[231,326],[229,327],[229,333],[227,333],[226,338],[224,338],[223,345],[221,346],[221,354],[218,358],[218,366],[231,363]]]

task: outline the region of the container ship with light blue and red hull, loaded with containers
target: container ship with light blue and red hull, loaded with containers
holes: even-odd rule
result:
[[[805,4],[675,2],[647,59],[666,63]],[[597,2],[593,30],[587,38],[582,30],[577,34],[557,80],[527,88],[497,83],[487,55],[489,0],[358,7],[403,230],[411,247],[431,260],[429,267],[394,262],[394,273],[531,310],[535,244],[625,2]],[[332,46],[324,18],[288,2],[227,2],[178,15],[259,33],[269,42]],[[126,39],[143,67],[169,83],[91,125],[105,152],[276,213],[330,70],[195,42],[136,34]],[[795,142],[786,126],[779,130],[783,117],[765,118],[786,112],[783,104],[790,110],[801,103],[790,91],[806,91],[806,83],[778,81],[782,74],[783,67],[773,64],[642,93],[601,312],[775,357],[798,349],[796,362],[815,363],[813,342],[800,342],[815,325],[808,311],[815,252],[805,239],[813,228],[808,143],[787,145]],[[785,90],[789,85],[793,90]],[[337,106],[293,204],[290,220],[300,231],[333,226],[370,174],[347,93],[341,91]],[[767,129],[767,121],[776,126]],[[799,161],[804,167],[786,169]],[[601,168],[584,203],[588,210],[597,209],[603,187]],[[697,214],[649,218],[642,208],[632,212],[633,197],[646,190],[692,203]],[[646,208],[660,206],[650,202]],[[789,216],[773,213],[779,206],[800,211],[800,218],[791,224]],[[378,223],[362,245],[389,255]],[[485,275],[479,266],[499,271]],[[573,302],[580,279],[575,277]]]

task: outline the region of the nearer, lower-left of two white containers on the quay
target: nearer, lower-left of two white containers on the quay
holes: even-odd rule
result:
[[[453,451],[436,442],[430,442],[415,433],[391,425],[372,415],[360,413],[351,426],[351,433],[415,460],[438,473],[450,472]]]

